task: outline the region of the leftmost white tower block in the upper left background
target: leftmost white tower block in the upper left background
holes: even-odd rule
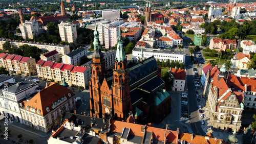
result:
[[[22,32],[24,39],[34,39],[34,36],[39,35],[39,25],[37,21],[27,21],[19,24],[19,29]]]

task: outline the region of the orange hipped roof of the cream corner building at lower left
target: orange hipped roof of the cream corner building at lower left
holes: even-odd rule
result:
[[[57,83],[51,82],[48,87],[38,92],[28,102],[24,101],[23,109],[31,111],[32,108],[35,108],[36,113],[39,109],[40,115],[46,115],[48,113],[46,110],[47,107],[50,109],[50,111],[53,110],[53,103],[58,102],[58,100],[61,101],[61,98],[63,98],[62,100],[64,100],[65,97],[67,99],[70,99],[69,93],[71,97],[74,95],[74,93],[70,89],[63,87]],[[30,109],[27,109],[27,106],[29,106]]]

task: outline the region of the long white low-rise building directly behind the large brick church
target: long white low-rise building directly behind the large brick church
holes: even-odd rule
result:
[[[133,49],[133,59],[135,61],[139,60],[141,57],[141,49],[135,47]],[[172,51],[172,50],[161,50],[161,49],[145,49],[143,48],[143,57],[150,58],[154,56],[155,59],[159,59],[160,61],[178,61],[178,62],[185,62],[185,51]]]

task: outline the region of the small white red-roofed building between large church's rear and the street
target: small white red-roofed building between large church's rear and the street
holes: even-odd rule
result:
[[[172,68],[172,73],[174,74],[173,80],[173,91],[184,91],[186,83],[186,71],[185,69]]]

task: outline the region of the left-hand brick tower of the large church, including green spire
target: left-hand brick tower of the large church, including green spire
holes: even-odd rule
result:
[[[99,34],[95,22],[94,31],[94,53],[92,55],[92,76],[90,81],[90,114],[91,116],[101,117],[102,110],[100,107],[100,86],[105,76],[104,55],[100,50]]]

